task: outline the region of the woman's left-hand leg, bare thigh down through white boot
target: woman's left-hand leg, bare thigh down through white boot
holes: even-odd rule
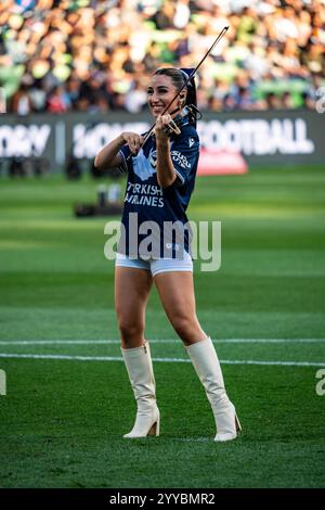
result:
[[[145,308],[152,286],[145,269],[116,267],[115,304],[121,352],[136,400],[133,429],[123,437],[159,435],[159,410],[150,345],[144,340]]]

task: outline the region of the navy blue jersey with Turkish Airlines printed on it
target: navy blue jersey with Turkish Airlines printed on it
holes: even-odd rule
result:
[[[152,250],[154,258],[182,257],[184,250],[190,252],[191,231],[187,227],[184,229],[187,224],[185,212],[194,189],[199,155],[195,127],[186,123],[180,135],[170,138],[170,156],[177,179],[168,188],[160,188],[157,181],[155,137],[151,137],[134,157],[128,157],[128,145],[122,146],[119,154],[122,168],[128,173],[128,183],[121,219],[125,239],[121,237],[118,252],[135,257],[142,256],[141,247],[145,247],[145,251]],[[153,222],[154,231],[148,230]],[[146,241],[153,241],[154,246],[147,246]]]

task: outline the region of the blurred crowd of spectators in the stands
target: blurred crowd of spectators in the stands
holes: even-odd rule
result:
[[[150,75],[193,67],[211,111],[313,109],[325,76],[325,0],[1,0],[8,111],[131,113]]]

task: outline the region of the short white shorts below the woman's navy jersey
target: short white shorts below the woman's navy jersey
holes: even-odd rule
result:
[[[193,260],[187,252],[184,252],[184,257],[180,258],[150,258],[144,260],[143,258],[130,258],[128,255],[121,253],[116,254],[115,259],[116,266],[121,267],[134,267],[136,269],[146,269],[151,271],[152,276],[155,277],[159,272],[171,272],[171,271],[191,271],[193,272]]]

